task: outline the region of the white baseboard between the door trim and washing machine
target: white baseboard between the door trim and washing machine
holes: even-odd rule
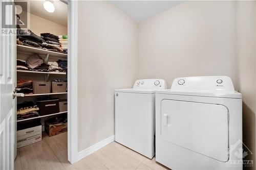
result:
[[[83,159],[84,157],[90,155],[91,153],[94,153],[95,151],[99,150],[100,148],[103,148],[105,145],[113,142],[114,140],[115,140],[115,135],[105,138],[104,140],[101,140],[100,142],[95,143],[91,147],[78,152],[78,157],[77,157],[78,160],[77,161]]]

